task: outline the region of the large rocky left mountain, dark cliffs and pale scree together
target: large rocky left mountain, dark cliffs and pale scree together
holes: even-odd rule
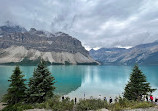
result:
[[[50,64],[98,64],[81,42],[68,34],[0,27],[0,64],[33,64],[41,58]]]

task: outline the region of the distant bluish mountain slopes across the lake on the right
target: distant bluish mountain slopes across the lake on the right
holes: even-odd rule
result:
[[[102,64],[133,65],[158,64],[158,41],[137,45],[130,49],[101,48],[90,50],[90,56]]]

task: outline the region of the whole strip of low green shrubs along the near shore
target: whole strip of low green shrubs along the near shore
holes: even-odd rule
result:
[[[26,109],[52,109],[53,111],[72,111],[75,108],[75,111],[86,111],[86,110],[98,110],[102,108],[109,109],[111,111],[120,111],[123,109],[136,109],[136,108],[148,108],[154,107],[155,105],[151,102],[142,102],[142,101],[129,101],[125,98],[119,98],[117,102],[109,104],[103,100],[99,99],[86,99],[80,100],[77,105],[74,105],[74,101],[70,98],[66,98],[63,101],[60,101],[59,96],[54,96],[51,99],[43,103],[36,104],[16,104],[6,106],[2,111],[23,111]]]

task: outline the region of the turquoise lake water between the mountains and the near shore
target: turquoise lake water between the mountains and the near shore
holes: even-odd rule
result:
[[[36,66],[20,66],[28,80]],[[0,98],[7,91],[8,79],[15,66],[0,66]],[[89,98],[93,96],[115,97],[122,95],[127,84],[132,66],[89,66],[89,65],[55,65],[48,66],[55,77],[56,94],[71,98]],[[140,66],[153,88],[158,89],[158,66]],[[153,93],[158,96],[158,91]]]

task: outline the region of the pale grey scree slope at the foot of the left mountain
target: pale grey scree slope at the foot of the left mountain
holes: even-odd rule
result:
[[[90,56],[85,56],[80,52],[41,52],[36,49],[26,49],[24,46],[12,46],[1,49],[0,64],[6,63],[31,63],[38,59],[44,59],[50,64],[92,64],[96,63]],[[37,61],[38,62],[38,61]]]

